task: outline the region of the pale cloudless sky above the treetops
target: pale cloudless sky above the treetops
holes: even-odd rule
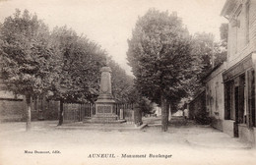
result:
[[[0,0],[0,23],[6,17],[28,9],[50,28],[72,27],[101,45],[127,74],[127,39],[138,20],[155,8],[177,12],[191,34],[211,32],[220,39],[220,26],[227,23],[221,17],[225,0]]]

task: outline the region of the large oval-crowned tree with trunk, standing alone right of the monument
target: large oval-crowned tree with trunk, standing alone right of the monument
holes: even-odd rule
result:
[[[186,94],[185,84],[193,71],[188,30],[174,14],[151,9],[137,21],[128,45],[135,85],[161,105],[161,130],[165,132],[168,107]]]

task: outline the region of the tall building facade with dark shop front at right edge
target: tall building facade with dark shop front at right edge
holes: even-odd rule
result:
[[[255,144],[256,0],[226,0],[228,20],[224,81],[224,132]]]

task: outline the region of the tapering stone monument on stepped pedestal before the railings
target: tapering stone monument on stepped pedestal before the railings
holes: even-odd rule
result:
[[[111,88],[111,69],[102,67],[99,95],[96,100],[96,115],[92,117],[93,123],[115,123],[118,116],[115,110],[115,101]]]

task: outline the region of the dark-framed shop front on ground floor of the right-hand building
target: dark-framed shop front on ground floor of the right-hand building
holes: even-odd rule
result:
[[[255,53],[224,74],[224,132],[255,143]]]

